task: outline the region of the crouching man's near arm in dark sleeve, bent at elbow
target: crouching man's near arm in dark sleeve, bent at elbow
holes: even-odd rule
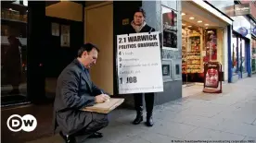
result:
[[[95,97],[91,95],[78,95],[80,75],[69,70],[62,77],[60,96],[69,108],[81,109],[95,104]]]

